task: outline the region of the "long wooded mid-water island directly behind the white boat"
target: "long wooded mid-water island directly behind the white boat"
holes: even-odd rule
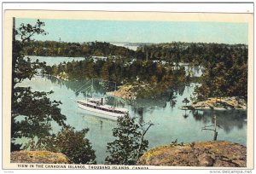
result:
[[[45,67],[45,72],[69,80],[102,78],[117,84],[136,86],[137,96],[154,96],[174,85],[186,82],[183,66],[172,66],[154,61],[106,61],[86,59]]]

